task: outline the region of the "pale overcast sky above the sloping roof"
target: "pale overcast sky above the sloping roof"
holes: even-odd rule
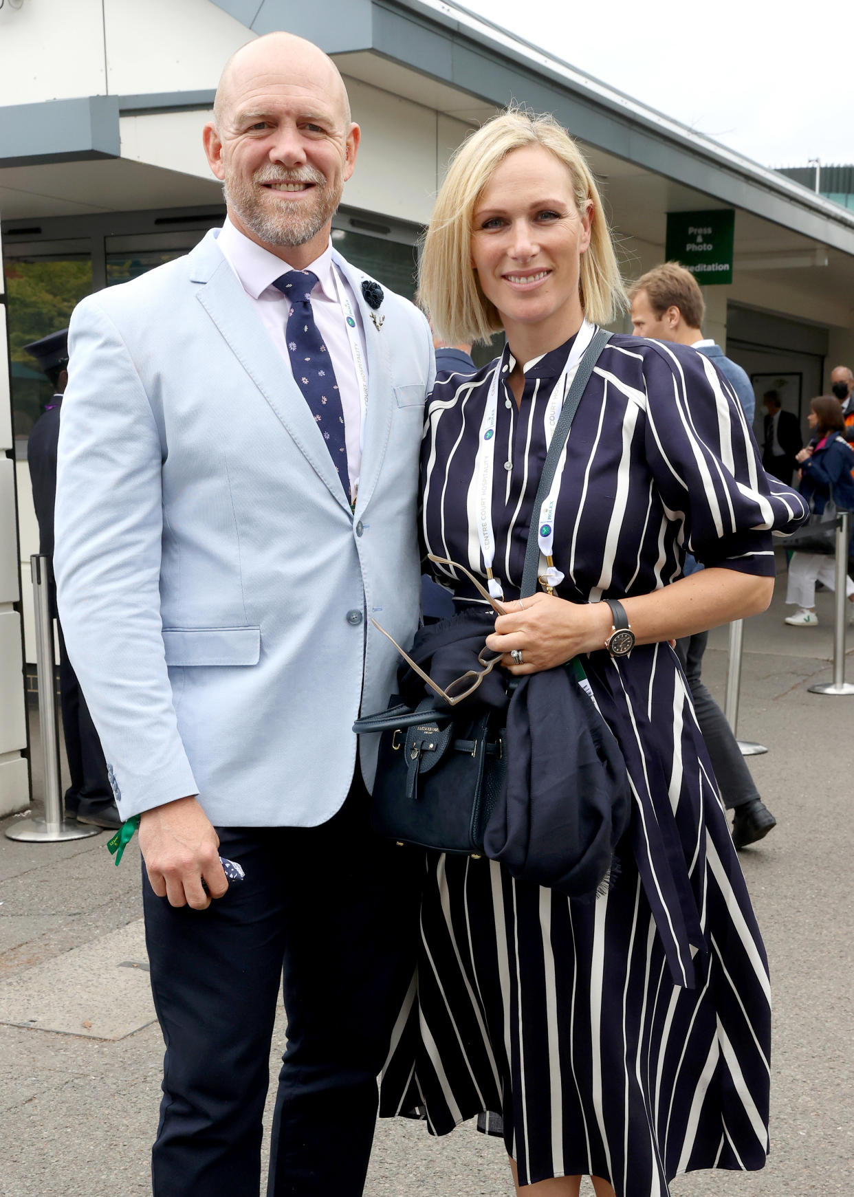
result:
[[[765,166],[854,163],[852,0],[460,2]]]

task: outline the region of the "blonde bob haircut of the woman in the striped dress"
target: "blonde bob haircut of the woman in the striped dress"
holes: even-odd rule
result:
[[[610,324],[628,299],[599,190],[581,151],[550,115],[508,110],[472,133],[454,154],[424,238],[419,294],[434,330],[450,345],[489,341],[501,317],[471,265],[474,208],[501,162],[514,150],[541,145],[569,171],[580,213],[590,205],[590,244],[581,256],[579,290],[585,315]]]

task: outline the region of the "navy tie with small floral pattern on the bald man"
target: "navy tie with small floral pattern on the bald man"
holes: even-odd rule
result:
[[[311,311],[311,288],[317,275],[311,271],[289,271],[273,282],[290,303],[287,352],[297,387],[317,421],[346,494],[350,494],[347,445],[344,436],[344,408],[332,359],[323,345]]]

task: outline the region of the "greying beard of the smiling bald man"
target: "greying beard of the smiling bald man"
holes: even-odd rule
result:
[[[268,192],[275,196],[274,205],[265,203],[261,195],[264,183],[314,183],[313,196],[305,200],[289,200],[286,192]],[[250,229],[255,236],[268,245],[304,245],[316,237],[320,230],[335,213],[341,200],[343,187],[329,186],[329,181],[314,166],[299,170],[262,166],[256,170],[252,182],[247,183],[240,176],[226,174],[223,183],[225,202],[235,215]]]

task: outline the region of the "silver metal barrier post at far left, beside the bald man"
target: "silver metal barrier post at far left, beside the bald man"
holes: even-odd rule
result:
[[[59,734],[56,724],[56,670],[54,662],[54,621],[50,614],[50,559],[30,558],[32,596],[36,615],[36,669],[38,676],[38,723],[44,766],[44,818],[19,820],[7,828],[10,839],[29,844],[55,844],[66,839],[97,836],[99,827],[66,822],[62,818],[60,789]]]

